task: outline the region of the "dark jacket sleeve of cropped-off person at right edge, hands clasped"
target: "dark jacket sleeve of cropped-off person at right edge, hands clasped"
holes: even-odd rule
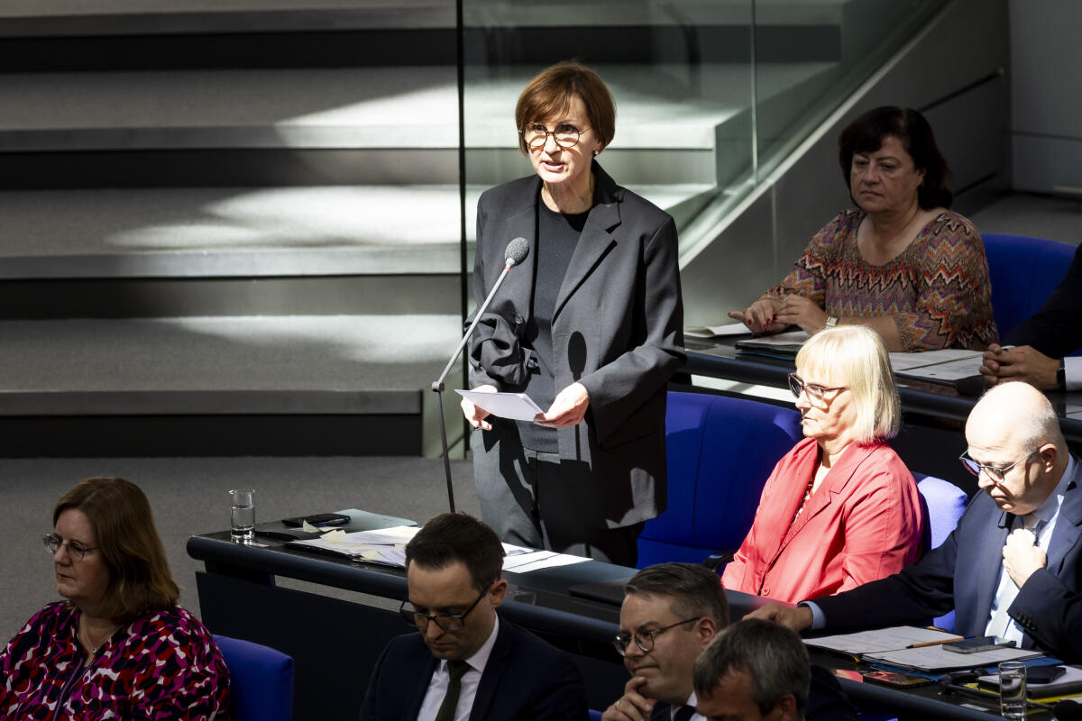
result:
[[[1006,343],[1033,346],[1048,358],[1069,356],[1082,346],[1082,245],[1056,290],[1040,310],[1011,331]]]

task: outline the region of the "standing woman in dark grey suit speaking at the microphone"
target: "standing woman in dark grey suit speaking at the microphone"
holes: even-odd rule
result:
[[[535,175],[477,203],[478,306],[507,242],[529,254],[471,339],[470,385],[546,411],[514,422],[463,401],[481,516],[509,543],[634,565],[665,506],[665,384],[684,362],[676,227],[598,164],[616,105],[590,68],[533,78],[515,124]]]

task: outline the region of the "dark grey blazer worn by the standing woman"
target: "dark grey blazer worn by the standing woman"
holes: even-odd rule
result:
[[[579,382],[590,393],[585,422],[558,431],[559,456],[586,464],[597,482],[575,484],[569,503],[595,528],[612,529],[665,507],[665,384],[685,360],[684,306],[672,217],[618,186],[596,161],[593,172],[597,203],[556,298],[552,347],[556,392]],[[503,270],[507,242],[525,238],[530,253],[471,339],[471,387],[520,390],[507,378],[528,356],[518,341],[533,297],[540,189],[538,176],[519,178],[477,203],[478,306]]]

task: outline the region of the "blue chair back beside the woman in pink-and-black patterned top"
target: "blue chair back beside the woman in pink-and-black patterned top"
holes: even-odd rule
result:
[[[234,721],[293,718],[293,659],[269,646],[214,636],[229,667]]]

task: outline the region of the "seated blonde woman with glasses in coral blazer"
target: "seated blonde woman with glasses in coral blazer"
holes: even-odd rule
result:
[[[844,325],[812,336],[789,387],[806,438],[775,466],[722,580],[796,602],[915,561],[923,517],[913,476],[886,443],[898,432],[900,403],[874,331]]]

